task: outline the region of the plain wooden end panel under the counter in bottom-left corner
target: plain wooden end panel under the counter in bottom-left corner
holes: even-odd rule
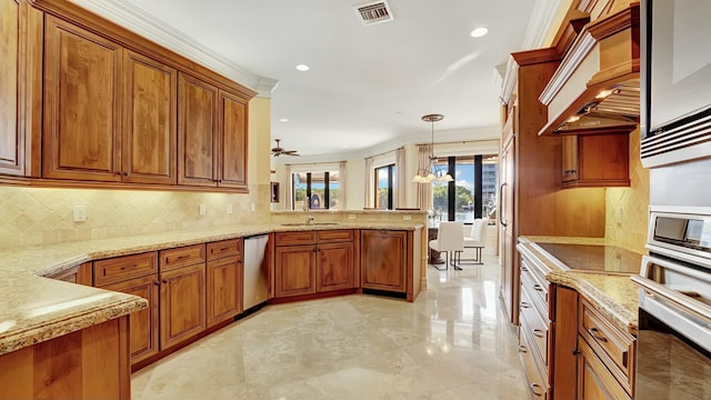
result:
[[[0,399],[128,400],[128,316],[0,356]]]

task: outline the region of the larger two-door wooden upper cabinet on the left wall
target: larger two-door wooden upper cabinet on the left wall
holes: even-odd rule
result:
[[[176,184],[173,68],[48,17],[43,177]]]

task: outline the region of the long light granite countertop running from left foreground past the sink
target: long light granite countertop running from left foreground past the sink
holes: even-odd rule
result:
[[[82,262],[279,231],[388,229],[418,223],[226,226],[0,251],[0,354],[71,333],[148,307],[136,296],[43,278]]]

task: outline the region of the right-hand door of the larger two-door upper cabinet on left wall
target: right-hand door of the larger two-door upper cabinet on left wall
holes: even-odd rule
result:
[[[174,69],[126,50],[123,181],[176,184]]]

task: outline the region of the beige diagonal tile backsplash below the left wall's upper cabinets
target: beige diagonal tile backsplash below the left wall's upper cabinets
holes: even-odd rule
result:
[[[249,189],[250,194],[233,194],[0,187],[0,249],[268,222],[269,202],[259,199],[269,199],[269,184]],[[74,206],[86,207],[84,222],[74,222]]]

